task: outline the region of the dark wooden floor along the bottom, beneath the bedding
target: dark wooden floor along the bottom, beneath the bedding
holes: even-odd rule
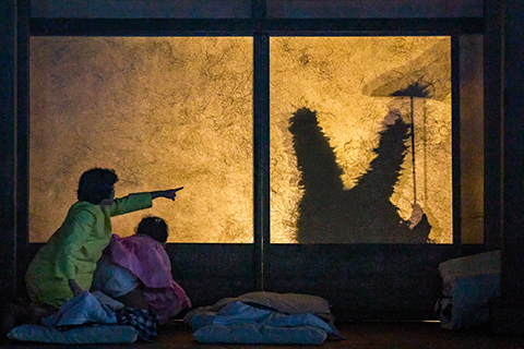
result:
[[[204,345],[194,341],[191,330],[181,322],[169,323],[159,330],[155,342],[139,341],[132,345],[82,345],[74,348],[109,349],[259,349],[259,348],[322,348],[322,349],[413,349],[413,348],[497,348],[524,349],[524,336],[495,335],[489,330],[446,330],[439,323],[340,323],[336,327],[346,336],[345,340],[329,340],[320,346],[261,346],[261,345]],[[2,341],[1,348],[71,348],[67,345]]]

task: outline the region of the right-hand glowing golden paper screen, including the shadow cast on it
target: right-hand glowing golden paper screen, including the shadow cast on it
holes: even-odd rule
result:
[[[450,38],[270,46],[271,242],[451,243]]]

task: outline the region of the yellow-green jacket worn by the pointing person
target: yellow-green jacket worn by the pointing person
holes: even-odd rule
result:
[[[73,204],[62,226],[29,264],[25,281],[33,302],[60,308],[73,298],[68,279],[90,290],[96,262],[111,238],[110,217],[151,206],[150,193],[116,198],[104,209],[83,201]]]

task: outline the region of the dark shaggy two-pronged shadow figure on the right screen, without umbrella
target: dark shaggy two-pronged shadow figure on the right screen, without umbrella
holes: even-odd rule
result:
[[[302,108],[289,122],[301,172],[299,184],[305,190],[298,208],[298,242],[427,242],[431,229],[427,217],[412,230],[390,201],[409,139],[409,125],[400,117],[380,132],[379,146],[373,149],[377,157],[350,190],[344,190],[343,170],[317,113]]]

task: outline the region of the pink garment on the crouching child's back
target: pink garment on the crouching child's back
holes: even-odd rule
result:
[[[160,325],[191,308],[188,296],[172,279],[171,263],[158,241],[145,234],[112,234],[104,255],[142,281],[145,300],[158,314]]]

